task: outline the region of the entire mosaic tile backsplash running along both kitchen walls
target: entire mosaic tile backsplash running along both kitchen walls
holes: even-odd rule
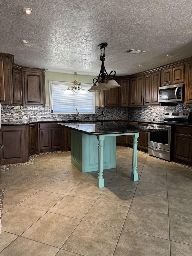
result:
[[[11,106],[1,105],[2,124],[17,124],[26,122],[61,122],[75,119],[74,114],[52,114],[50,107],[41,106]],[[192,105],[175,104],[173,106],[148,106],[132,108],[99,108],[95,107],[95,114],[79,114],[78,120],[134,120],[162,121],[166,111],[192,112]],[[190,117],[190,122],[192,119]]]

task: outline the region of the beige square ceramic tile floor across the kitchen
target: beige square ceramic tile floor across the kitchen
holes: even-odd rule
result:
[[[116,168],[81,173],[70,152],[1,172],[0,255],[191,256],[191,169],[117,147]]]

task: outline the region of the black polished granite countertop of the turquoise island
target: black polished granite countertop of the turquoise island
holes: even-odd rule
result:
[[[136,132],[162,131],[164,128],[147,127],[139,125],[128,125],[124,123],[110,122],[76,122],[76,123],[58,123],[72,130],[78,130],[88,135],[102,134],[126,134]]]

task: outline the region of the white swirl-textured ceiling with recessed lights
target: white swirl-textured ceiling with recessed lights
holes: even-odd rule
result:
[[[0,52],[26,67],[98,75],[107,42],[107,72],[129,75],[192,56],[191,17],[191,0],[1,0]]]

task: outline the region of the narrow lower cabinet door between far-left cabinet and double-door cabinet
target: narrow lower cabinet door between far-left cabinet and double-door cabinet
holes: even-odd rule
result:
[[[29,125],[29,153],[38,150],[38,125]]]

